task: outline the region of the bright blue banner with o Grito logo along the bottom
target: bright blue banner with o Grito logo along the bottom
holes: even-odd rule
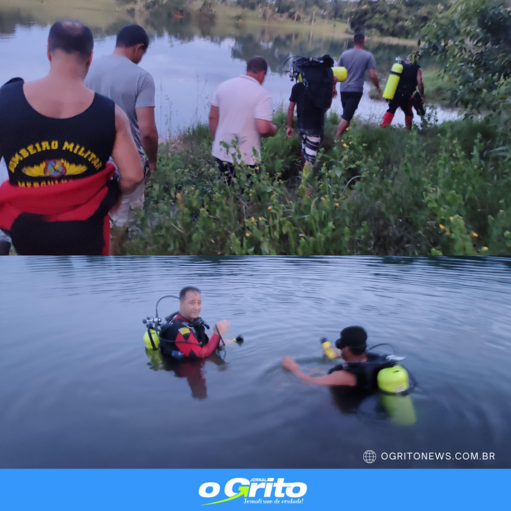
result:
[[[2,470],[4,509],[508,507],[507,469]],[[501,508],[500,506],[498,508]]]

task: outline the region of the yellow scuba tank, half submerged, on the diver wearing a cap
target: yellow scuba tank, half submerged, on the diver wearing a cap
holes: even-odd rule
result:
[[[385,367],[378,373],[378,387],[383,390],[380,401],[392,422],[400,426],[411,426],[417,420],[410,394],[408,371],[401,365]]]

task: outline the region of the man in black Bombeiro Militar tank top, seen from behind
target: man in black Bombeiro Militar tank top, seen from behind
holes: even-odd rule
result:
[[[19,254],[108,254],[108,211],[143,179],[126,114],[83,85],[93,46],[88,27],[57,21],[50,73],[0,88],[0,157],[9,174],[0,228]]]

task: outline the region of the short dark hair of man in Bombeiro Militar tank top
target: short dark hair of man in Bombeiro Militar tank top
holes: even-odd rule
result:
[[[65,53],[78,53],[84,58],[90,57],[94,49],[94,37],[90,29],[81,21],[61,19],[56,21],[48,36],[50,53],[62,50]]]

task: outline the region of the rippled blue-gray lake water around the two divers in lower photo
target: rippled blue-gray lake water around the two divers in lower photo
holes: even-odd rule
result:
[[[511,468],[510,269],[491,258],[1,258],[0,467]],[[201,316],[229,319],[227,337],[245,342],[163,364],[146,354],[142,319],[190,284]],[[282,369],[289,355],[325,374],[319,339],[350,324],[406,357],[418,385],[404,417],[378,394]]]

